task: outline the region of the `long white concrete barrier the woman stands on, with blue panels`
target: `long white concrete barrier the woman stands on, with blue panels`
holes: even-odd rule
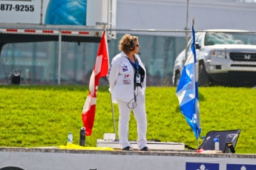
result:
[[[256,154],[184,151],[123,152],[79,149],[0,148],[0,170],[252,170]]]

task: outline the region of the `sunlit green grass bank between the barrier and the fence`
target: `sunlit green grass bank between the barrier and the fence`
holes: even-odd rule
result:
[[[196,148],[197,140],[180,113],[175,91],[176,87],[147,87],[147,138]],[[201,136],[211,130],[241,129],[236,153],[256,154],[256,89],[200,87],[199,93]],[[0,86],[0,94],[0,146],[66,145],[69,132],[73,143],[79,144],[88,86]],[[86,146],[96,146],[104,133],[114,132],[108,87],[99,86],[97,95],[93,133],[86,137]],[[118,132],[116,104],[114,115]],[[130,122],[129,140],[137,140],[133,115]]]

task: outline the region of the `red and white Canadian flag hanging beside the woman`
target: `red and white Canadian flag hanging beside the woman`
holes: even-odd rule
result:
[[[95,66],[90,78],[89,94],[86,98],[84,109],[82,110],[82,122],[85,126],[86,136],[90,136],[93,129],[99,78],[105,77],[108,74],[108,67],[108,42],[104,30],[102,39],[99,44]]]

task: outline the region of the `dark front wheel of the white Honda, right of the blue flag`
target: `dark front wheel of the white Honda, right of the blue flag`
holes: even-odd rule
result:
[[[209,86],[209,75],[203,62],[198,67],[198,86]]]

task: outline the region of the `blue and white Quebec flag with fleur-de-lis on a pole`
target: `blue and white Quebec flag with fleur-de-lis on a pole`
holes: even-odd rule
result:
[[[201,133],[199,116],[199,96],[198,96],[198,72],[196,67],[197,56],[195,47],[194,27],[192,26],[193,40],[191,51],[188,55],[180,81],[177,86],[176,95],[180,102],[180,110],[194,131],[195,137]]]

